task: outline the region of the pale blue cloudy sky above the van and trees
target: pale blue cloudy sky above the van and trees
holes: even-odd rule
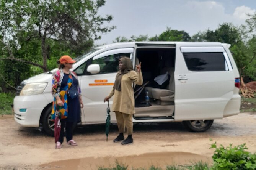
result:
[[[170,27],[189,35],[207,29],[215,30],[223,22],[245,24],[246,14],[256,12],[256,0],[106,0],[100,16],[114,18],[104,26],[116,26],[101,34],[96,44],[109,44],[117,37],[160,35]]]

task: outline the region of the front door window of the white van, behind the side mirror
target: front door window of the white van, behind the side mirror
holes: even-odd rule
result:
[[[121,56],[130,58],[130,53],[114,54],[101,57],[92,61],[92,64],[99,64],[100,72],[98,74],[113,73],[118,71],[119,59]]]

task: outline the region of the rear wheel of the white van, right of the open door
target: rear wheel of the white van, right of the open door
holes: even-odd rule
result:
[[[192,132],[204,132],[212,126],[213,120],[189,120],[182,123]]]

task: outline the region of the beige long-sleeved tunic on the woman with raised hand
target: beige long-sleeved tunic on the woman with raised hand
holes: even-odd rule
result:
[[[112,88],[108,97],[114,95],[112,111],[119,111],[126,114],[134,114],[134,89],[132,88],[132,83],[137,85],[142,85],[143,78],[141,71],[139,73],[134,70],[126,73],[122,76],[121,80],[121,91]]]

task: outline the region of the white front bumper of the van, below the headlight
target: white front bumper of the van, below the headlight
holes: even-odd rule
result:
[[[13,100],[14,119],[26,127],[39,127],[41,113],[49,104],[43,94],[15,96]]]

